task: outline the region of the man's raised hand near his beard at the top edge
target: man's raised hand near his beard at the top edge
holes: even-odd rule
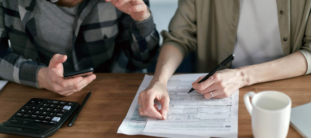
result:
[[[120,11],[130,15],[134,20],[143,21],[151,16],[147,5],[142,0],[105,0],[111,2]]]

